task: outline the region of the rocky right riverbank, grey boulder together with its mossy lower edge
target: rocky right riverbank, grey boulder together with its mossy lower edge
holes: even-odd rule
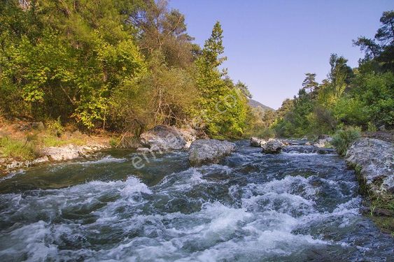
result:
[[[356,140],[346,153],[356,170],[365,208],[361,210],[382,230],[394,232],[394,145],[374,138]]]

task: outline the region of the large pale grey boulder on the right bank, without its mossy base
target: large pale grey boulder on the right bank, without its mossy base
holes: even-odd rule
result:
[[[367,186],[376,193],[394,193],[394,146],[374,138],[356,140],[346,153],[346,161],[361,168]]]

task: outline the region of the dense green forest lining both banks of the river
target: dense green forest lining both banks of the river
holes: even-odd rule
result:
[[[56,121],[85,132],[136,136],[157,124],[214,138],[314,136],[347,126],[394,125],[394,12],[385,12],[358,68],[330,57],[323,82],[307,73],[279,110],[251,108],[251,94],[221,69],[223,30],[203,47],[167,1],[17,1],[0,5],[0,109],[8,119]]]

